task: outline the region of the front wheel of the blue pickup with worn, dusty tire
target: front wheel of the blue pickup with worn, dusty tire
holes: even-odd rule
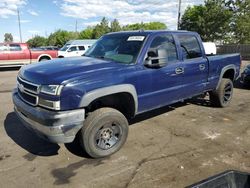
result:
[[[100,108],[86,118],[80,132],[83,149],[93,158],[117,152],[128,136],[128,121],[118,110]]]

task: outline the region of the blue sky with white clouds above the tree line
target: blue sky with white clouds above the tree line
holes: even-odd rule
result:
[[[204,0],[182,0],[187,6]],[[19,41],[17,9],[20,10],[23,41],[34,35],[48,36],[57,29],[78,30],[96,25],[102,17],[117,18],[122,25],[160,21],[176,29],[179,0],[0,0],[0,42],[4,33]]]

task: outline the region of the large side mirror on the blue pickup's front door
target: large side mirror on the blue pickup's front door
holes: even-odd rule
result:
[[[159,48],[155,51],[148,52],[148,57],[146,58],[144,65],[149,68],[160,68],[166,66],[168,60],[167,50]]]

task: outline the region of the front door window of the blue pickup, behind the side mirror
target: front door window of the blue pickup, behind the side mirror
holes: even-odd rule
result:
[[[161,54],[159,53],[161,51]],[[154,38],[148,50],[148,56],[159,57],[163,63],[177,60],[176,46],[172,35],[161,34]],[[158,63],[159,60],[153,60],[152,63]]]

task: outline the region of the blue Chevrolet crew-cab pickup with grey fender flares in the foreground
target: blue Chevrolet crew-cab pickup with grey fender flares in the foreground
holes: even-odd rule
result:
[[[137,114],[203,93],[228,106],[240,64],[239,54],[206,56],[195,32],[110,33],[83,57],[22,67],[14,109],[43,138],[78,138],[91,157],[105,157],[125,143]]]

